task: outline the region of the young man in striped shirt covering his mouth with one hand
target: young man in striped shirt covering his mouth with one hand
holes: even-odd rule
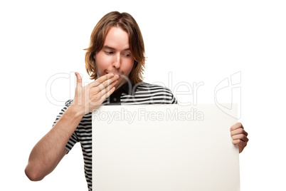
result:
[[[168,88],[142,82],[144,42],[131,15],[114,11],[103,16],[92,31],[86,51],[85,68],[95,81],[82,87],[82,79],[75,73],[75,98],[65,103],[53,128],[31,151],[25,170],[30,180],[42,180],[80,142],[88,190],[92,190],[92,109],[100,105],[177,103]],[[248,133],[236,123],[231,135],[241,152]]]

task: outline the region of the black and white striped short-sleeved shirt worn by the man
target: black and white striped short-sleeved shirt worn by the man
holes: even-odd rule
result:
[[[65,107],[57,116],[55,123],[65,113],[65,110],[73,103],[68,100]],[[137,83],[136,85],[125,83],[118,90],[105,99],[102,105],[148,105],[148,104],[176,104],[177,101],[168,88],[149,83]],[[68,140],[65,149],[70,151],[75,143],[80,142],[85,163],[85,178],[88,182],[88,190],[92,190],[92,113],[83,116],[78,128]]]

